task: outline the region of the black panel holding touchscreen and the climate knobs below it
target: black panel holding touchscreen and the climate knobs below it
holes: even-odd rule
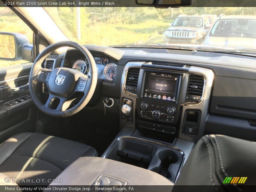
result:
[[[139,116],[161,123],[177,123],[179,93],[183,74],[142,69],[137,103]]]

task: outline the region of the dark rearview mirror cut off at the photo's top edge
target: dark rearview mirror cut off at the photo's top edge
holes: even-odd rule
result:
[[[136,0],[136,4],[147,6],[180,7],[190,5],[191,0]]]

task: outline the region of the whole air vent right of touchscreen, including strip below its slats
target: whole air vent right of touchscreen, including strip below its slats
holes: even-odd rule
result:
[[[203,96],[204,78],[200,75],[190,74],[188,78],[188,87],[186,101],[195,102]]]

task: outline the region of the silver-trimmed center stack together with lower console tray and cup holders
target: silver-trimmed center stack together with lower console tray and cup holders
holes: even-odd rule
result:
[[[213,78],[212,70],[186,64],[128,62],[121,82],[123,133],[102,157],[175,182],[204,134]]]

